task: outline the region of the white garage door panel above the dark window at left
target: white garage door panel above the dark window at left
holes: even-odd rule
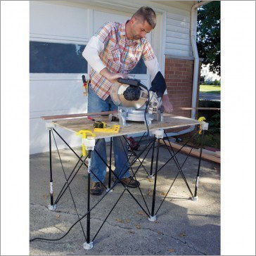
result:
[[[88,10],[30,1],[30,34],[88,41]]]

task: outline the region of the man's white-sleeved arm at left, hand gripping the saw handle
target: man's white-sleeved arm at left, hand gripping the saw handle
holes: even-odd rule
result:
[[[96,72],[103,75],[103,77],[110,82],[116,82],[117,78],[127,78],[127,75],[110,72],[99,57],[99,53],[103,51],[105,44],[108,42],[111,30],[111,23],[107,23],[101,27],[101,29],[91,37],[87,46],[84,48],[82,56],[87,60],[89,65],[91,65],[91,68],[96,70]]]

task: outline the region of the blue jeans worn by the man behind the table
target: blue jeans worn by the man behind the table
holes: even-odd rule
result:
[[[110,96],[103,101],[103,99],[98,97],[98,95],[95,93],[94,89],[91,88],[91,84],[89,84],[88,113],[99,113],[113,110],[117,110],[117,105],[113,103]],[[95,149],[98,151],[99,155],[101,155],[103,160],[107,162],[105,139],[99,139]],[[120,178],[129,177],[129,162],[127,161],[128,148],[127,143],[122,136],[113,137],[113,150],[115,155],[115,174],[117,177],[120,175]],[[95,176],[91,172],[91,179],[94,182],[98,182],[98,179],[100,179],[101,182],[105,180],[106,165],[95,153],[95,151],[91,151],[91,171],[96,175]],[[98,177],[98,179],[96,177]]]

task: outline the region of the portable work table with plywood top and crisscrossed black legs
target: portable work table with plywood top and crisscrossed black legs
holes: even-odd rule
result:
[[[47,118],[45,118],[45,119],[47,119]],[[119,124],[118,122],[110,122],[108,116],[101,117],[101,120],[103,122],[106,122],[110,126],[112,126],[113,124],[114,125]],[[186,127],[186,126],[190,126],[190,125],[200,126],[200,136],[201,136],[200,157],[198,160],[198,172],[195,177],[196,185],[194,188],[191,188],[188,185],[188,181],[186,180],[186,173],[184,173],[184,171],[182,170],[186,160],[188,159],[189,155],[191,155],[191,151],[187,153],[184,162],[181,163],[177,159],[177,154],[179,154],[181,152],[181,149],[184,148],[184,146],[186,146],[186,144],[189,141],[191,141],[193,136],[191,137],[191,139],[189,141],[187,141],[183,146],[181,146],[181,148],[179,148],[179,149],[175,148],[175,151],[174,151],[174,148],[172,147],[172,143],[169,141],[169,137],[167,136],[167,133],[165,132],[165,129],[169,130],[169,129],[174,129],[177,127]],[[151,222],[155,222],[157,219],[160,207],[162,206],[162,203],[164,203],[165,198],[167,197],[167,194],[171,190],[174,182],[177,180],[177,177],[179,175],[181,175],[181,178],[184,180],[184,183],[186,184],[186,188],[188,191],[188,199],[194,200],[194,201],[198,200],[198,182],[199,182],[199,176],[200,176],[200,163],[201,163],[202,148],[203,148],[203,136],[204,136],[205,130],[207,129],[207,123],[203,122],[203,121],[193,120],[193,119],[187,118],[187,117],[165,115],[163,122],[153,121],[152,124],[149,126],[149,130],[151,132],[151,137],[147,141],[146,145],[143,146],[143,150],[139,151],[139,153],[138,153],[138,151],[137,152],[132,151],[132,153],[130,155],[128,155],[126,153],[126,155],[127,155],[126,164],[127,163],[129,164],[129,169],[131,169],[132,177],[134,179],[136,179],[136,174],[138,172],[145,172],[149,179],[153,179],[153,194],[152,194],[151,204],[148,205],[146,203],[146,200],[144,199],[145,195],[143,195],[140,187],[138,187],[138,189],[140,191],[139,196],[140,196],[140,199],[142,198],[143,203],[139,203],[138,195],[134,196],[132,191],[130,191],[130,189],[127,186],[125,186],[124,184],[121,183],[124,190],[120,194],[119,198],[116,200],[114,206],[109,210],[109,212],[105,213],[105,219],[104,219],[103,223],[101,224],[100,228],[98,229],[98,231],[96,231],[96,233],[92,234],[91,233],[91,210],[96,208],[99,204],[104,203],[104,198],[106,196],[111,197],[112,193],[116,193],[115,191],[113,191],[113,188],[115,188],[115,186],[117,184],[120,184],[120,182],[119,182],[120,177],[117,177],[115,172],[113,172],[113,167],[111,164],[111,160],[113,158],[113,155],[112,155],[113,137],[119,136],[119,139],[121,141],[123,141],[122,146],[124,149],[124,146],[125,146],[124,143],[129,144],[129,141],[127,140],[126,136],[129,134],[136,134],[136,133],[141,133],[141,132],[144,133],[143,136],[146,136],[146,131],[147,131],[146,126],[143,123],[127,122],[126,126],[121,125],[120,132],[118,134],[97,132],[95,137],[91,136],[91,137],[87,138],[87,139],[89,139],[89,144],[87,145],[88,154],[86,156],[78,155],[74,151],[74,149],[71,148],[71,146],[65,141],[63,136],[61,136],[60,132],[57,132],[56,127],[68,129],[69,131],[74,132],[74,133],[77,133],[84,129],[93,131],[93,124],[92,124],[91,120],[86,120],[85,118],[81,118],[81,117],[63,119],[63,120],[61,120],[61,119],[53,120],[49,123],[46,123],[46,127],[49,132],[49,174],[50,174],[49,177],[50,177],[50,195],[51,195],[49,210],[57,209],[58,201],[60,200],[60,198],[62,198],[65,195],[65,191],[67,191],[67,189],[68,189],[68,191],[70,192],[70,196],[72,198],[73,205],[77,212],[76,203],[72,196],[72,191],[70,189],[70,184],[72,183],[72,180],[75,178],[77,172],[79,171],[79,169],[81,169],[81,167],[85,167],[87,169],[87,175],[88,175],[88,179],[87,179],[87,210],[84,210],[83,213],[80,212],[79,214],[77,212],[77,221],[74,224],[72,224],[72,226],[70,226],[70,229],[68,230],[68,232],[65,233],[63,236],[61,236],[60,238],[56,238],[56,239],[48,239],[46,237],[32,238],[30,241],[34,241],[37,239],[41,239],[41,240],[45,240],[45,241],[58,241],[58,240],[64,238],[71,231],[72,227],[75,226],[75,224],[79,223],[79,225],[81,226],[81,229],[82,229],[82,233],[84,235],[84,245],[83,245],[84,249],[89,250],[89,249],[93,248],[94,243],[96,242],[96,238],[97,238],[98,234],[100,233],[102,226],[105,224],[106,220],[108,219],[111,212],[113,211],[113,209],[117,205],[118,201],[120,200],[120,198],[122,198],[122,196],[125,192],[129,193],[132,200],[134,200],[139,205],[139,207],[141,207],[141,210],[143,210],[143,212],[145,212],[146,216],[148,217],[148,220]],[[63,162],[61,160],[60,152],[58,151],[58,145],[56,143],[56,136],[58,136],[66,144],[66,146],[68,146],[70,151],[72,151],[72,153],[74,153],[74,155],[77,157],[77,163],[76,163],[75,167],[72,170],[70,170],[71,172],[70,172],[69,176],[67,176],[67,174],[65,173],[64,168],[63,168]],[[143,139],[143,136],[141,137],[141,139]],[[102,139],[102,138],[110,138],[110,153],[109,153],[110,160],[109,160],[109,162],[105,162],[105,160],[103,160],[101,155],[98,154],[98,151],[96,151],[96,148],[94,147],[96,145],[96,143],[98,142],[98,139]],[[58,151],[58,157],[60,160],[61,167],[63,169],[63,174],[65,176],[65,184],[63,184],[63,187],[60,189],[60,191],[58,191],[58,193],[56,193],[56,194],[58,194],[58,196],[56,198],[53,198],[54,166],[52,165],[52,160],[51,160],[51,157],[52,157],[51,151],[52,151],[53,143],[55,144],[56,149]],[[164,164],[162,164],[160,166],[159,160],[160,160],[161,156],[159,153],[159,148],[160,148],[160,145],[162,145],[161,143],[163,143],[163,146],[165,146],[167,148],[167,151],[169,152],[169,159]],[[101,160],[104,162],[105,166],[109,170],[108,184],[107,185],[103,184],[103,186],[105,187],[105,193],[103,193],[103,196],[98,197],[99,198],[98,202],[95,203],[94,205],[91,205],[91,200],[90,200],[91,173],[94,174],[94,170],[91,169],[91,167],[90,167],[92,151],[95,151],[95,153],[99,156],[99,158],[101,158]],[[124,152],[125,152],[125,150],[124,150]],[[142,155],[143,155],[143,158],[142,158]],[[149,158],[151,158],[151,168],[150,169],[147,169],[143,165],[143,162],[147,156]],[[176,174],[175,178],[172,180],[172,183],[169,184],[169,190],[165,194],[165,198],[162,199],[162,202],[160,204],[156,205],[155,204],[155,193],[158,189],[158,186],[157,186],[158,174],[161,172],[162,168],[164,168],[168,165],[168,163],[170,161],[174,161],[174,164],[177,167],[177,174]],[[136,167],[136,169],[134,169],[135,163],[139,163],[139,167]],[[127,171],[127,169],[123,168],[121,171],[121,174],[124,174],[126,171]],[[115,177],[115,181],[111,182],[113,177]],[[137,188],[134,188],[134,189],[137,189]],[[127,209],[124,209],[124,210],[127,210]],[[131,209],[129,209],[129,210],[131,210]],[[83,226],[82,222],[81,222],[82,219],[84,219],[84,218],[87,219],[86,226]],[[94,235],[94,236],[92,236],[92,235]]]

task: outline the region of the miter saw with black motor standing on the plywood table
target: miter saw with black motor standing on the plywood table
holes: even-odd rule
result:
[[[145,122],[162,121],[161,97],[141,84],[139,79],[117,79],[111,89],[110,96],[118,106],[120,124],[127,121]]]

